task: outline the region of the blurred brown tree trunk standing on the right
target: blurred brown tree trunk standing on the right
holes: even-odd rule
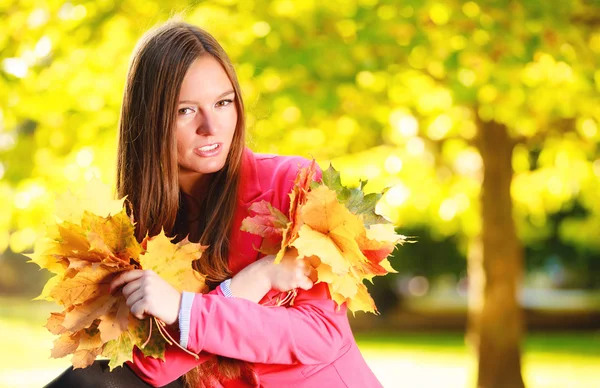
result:
[[[483,159],[482,232],[469,249],[467,342],[478,357],[477,387],[524,387],[518,301],[523,252],[512,215],[510,185],[514,143],[507,128],[480,122],[476,144]]]

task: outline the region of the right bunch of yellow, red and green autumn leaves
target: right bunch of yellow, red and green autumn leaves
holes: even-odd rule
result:
[[[257,202],[250,206],[253,215],[243,221],[242,230],[262,236],[259,250],[276,254],[276,263],[287,249],[296,249],[298,258],[316,260],[317,282],[327,283],[338,306],[345,302],[353,313],[376,313],[363,281],[396,272],[387,257],[407,239],[375,213],[382,193],[365,195],[366,182],[354,189],[343,186],[332,166],[323,172],[322,182],[314,181],[315,174],[314,160],[300,169],[289,217],[266,201]]]

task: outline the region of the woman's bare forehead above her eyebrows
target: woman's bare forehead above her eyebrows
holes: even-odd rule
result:
[[[223,66],[211,55],[202,55],[185,74],[179,100],[211,99],[231,89],[233,85]]]

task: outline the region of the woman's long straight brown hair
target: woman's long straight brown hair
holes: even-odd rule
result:
[[[148,31],[131,58],[119,122],[117,193],[127,196],[139,241],[164,228],[175,236],[185,232],[179,182],[175,119],[183,78],[191,64],[211,55],[227,73],[235,91],[237,125],[225,166],[211,174],[201,209],[200,242],[208,245],[195,268],[213,286],[230,276],[229,240],[244,150],[244,104],[233,65],[208,32],[178,20]],[[184,237],[184,236],[179,236]],[[248,365],[217,357],[189,372],[188,386],[210,386],[210,378],[236,378]]]

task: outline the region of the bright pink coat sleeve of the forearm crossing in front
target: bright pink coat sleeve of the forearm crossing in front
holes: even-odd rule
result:
[[[257,363],[322,364],[348,333],[346,306],[338,308],[325,283],[299,292],[289,307],[196,294],[188,349]]]

